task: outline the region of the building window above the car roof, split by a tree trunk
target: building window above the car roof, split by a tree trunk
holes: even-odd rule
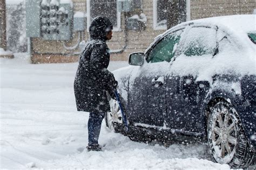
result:
[[[167,11],[170,6],[170,0],[153,0],[153,28],[154,30],[167,29]],[[190,0],[179,1],[178,4],[179,22],[190,20]]]

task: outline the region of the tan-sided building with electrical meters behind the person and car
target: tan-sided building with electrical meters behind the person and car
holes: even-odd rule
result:
[[[167,14],[171,2],[173,1],[26,0],[31,61],[76,62],[80,53],[78,44],[90,37],[88,28],[91,19],[99,15],[110,18],[114,25],[113,37],[107,42],[111,49],[111,60],[127,60],[129,53],[145,51],[154,37],[167,30]],[[255,0],[180,0],[177,3],[179,13],[175,17],[178,17],[179,22],[252,14],[256,4]]]

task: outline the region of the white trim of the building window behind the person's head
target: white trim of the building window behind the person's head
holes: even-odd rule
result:
[[[117,6],[118,8],[118,6]],[[91,25],[91,1],[87,0],[86,1],[86,10],[87,10],[87,31],[89,31],[89,27]],[[118,12],[117,10],[117,26],[113,27],[112,31],[121,31],[121,12]]]

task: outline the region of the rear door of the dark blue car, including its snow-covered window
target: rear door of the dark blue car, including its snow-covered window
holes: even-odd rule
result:
[[[204,115],[200,114],[203,96],[209,89],[203,72],[216,53],[217,30],[191,26],[183,34],[179,54],[166,81],[167,127],[179,133],[204,133]]]

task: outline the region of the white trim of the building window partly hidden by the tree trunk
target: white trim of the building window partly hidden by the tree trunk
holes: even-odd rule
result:
[[[153,29],[167,30],[167,25],[157,26],[157,1],[153,0]],[[190,21],[190,0],[186,0],[186,21]]]

